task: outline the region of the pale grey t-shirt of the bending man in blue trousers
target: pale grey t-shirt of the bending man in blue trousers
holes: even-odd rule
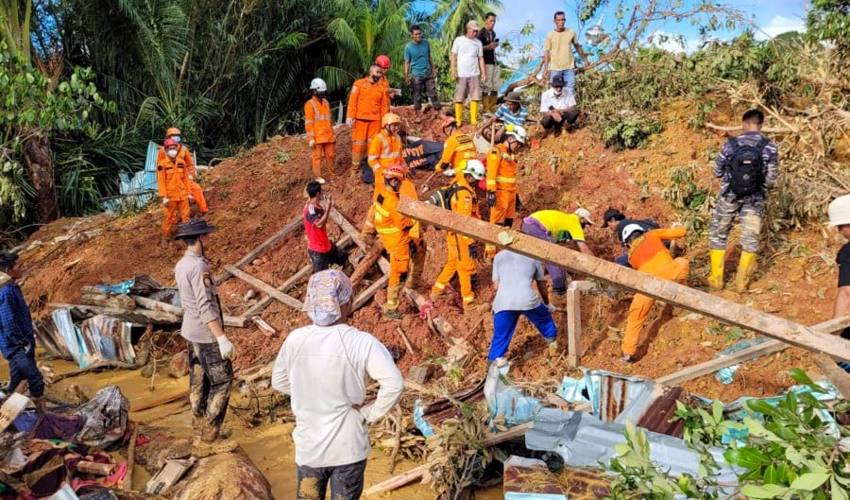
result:
[[[493,314],[499,311],[528,311],[540,305],[532,281],[543,281],[543,265],[525,255],[502,250],[493,259],[493,281],[499,282],[493,299]]]

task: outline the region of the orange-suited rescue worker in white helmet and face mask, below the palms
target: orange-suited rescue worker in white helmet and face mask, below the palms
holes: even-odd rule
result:
[[[304,130],[308,144],[313,148],[313,176],[319,183],[322,178],[322,158],[325,159],[325,169],[328,179],[336,177],[336,153],[334,152],[334,129],[331,122],[331,105],[325,94],[328,86],[321,78],[313,78],[310,82],[310,92],[313,97],[304,103]]]

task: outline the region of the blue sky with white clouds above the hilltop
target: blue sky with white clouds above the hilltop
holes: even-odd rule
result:
[[[606,9],[600,9],[600,12],[605,13],[603,27],[609,32],[614,29],[616,24],[614,10],[617,3],[616,0],[611,0]],[[624,2],[624,4],[626,3]],[[683,3],[685,5],[696,4],[698,0],[684,0]],[[805,30],[808,0],[740,0],[739,2],[725,3],[752,16],[753,23],[759,28],[759,31],[756,32],[757,39],[767,39],[787,31],[802,32]],[[422,0],[418,4],[422,8],[428,9],[428,0]],[[579,41],[582,44],[585,43],[583,30],[597,21],[594,19],[593,22],[586,23],[583,28],[576,26],[575,17],[578,0],[502,0],[502,4],[504,6],[503,11],[497,12],[496,34],[502,40],[510,41],[515,47],[528,43],[539,44],[542,47],[546,33],[554,27],[552,18],[556,10],[563,10],[567,13],[567,27],[578,28]],[[529,37],[521,37],[519,31],[527,22],[534,25],[534,34]],[[663,44],[656,42],[656,45],[676,52],[692,52],[697,48],[700,41],[698,28],[691,26],[687,21],[681,23],[670,21],[659,24],[654,27],[654,30],[659,34],[681,35],[685,43],[684,48],[673,40],[668,40]],[[714,36],[724,40],[732,38],[738,33],[720,32],[714,34]]]

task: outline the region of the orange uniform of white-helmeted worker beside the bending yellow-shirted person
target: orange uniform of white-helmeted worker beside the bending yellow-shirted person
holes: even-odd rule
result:
[[[517,174],[516,155],[501,143],[487,152],[487,191],[496,193],[496,204],[490,207],[490,223],[500,226],[513,225],[516,215]],[[496,255],[495,245],[486,245],[487,255]]]

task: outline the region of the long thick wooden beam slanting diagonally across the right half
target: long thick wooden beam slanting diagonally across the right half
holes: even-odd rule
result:
[[[696,311],[724,323],[740,326],[783,342],[850,361],[850,342],[816,332],[799,323],[695,290],[674,281],[656,278],[613,262],[585,255],[518,231],[465,217],[450,210],[402,197],[399,211],[413,219],[498,245],[529,257],[587,274],[670,304]],[[499,236],[502,233],[502,240]]]

